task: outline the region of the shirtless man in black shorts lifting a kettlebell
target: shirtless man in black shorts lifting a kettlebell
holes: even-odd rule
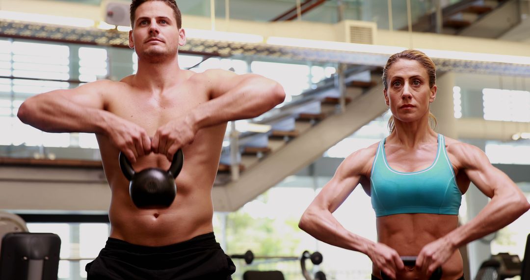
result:
[[[180,69],[185,43],[174,0],[133,0],[129,46],[138,72],[26,100],[18,117],[46,132],[95,133],[111,188],[110,237],[88,279],[231,279],[235,267],[213,234],[211,188],[226,123],[257,117],[285,98],[275,81],[224,70]],[[152,138],[151,138],[152,137]],[[135,170],[185,160],[169,208],[139,209],[118,154]]]

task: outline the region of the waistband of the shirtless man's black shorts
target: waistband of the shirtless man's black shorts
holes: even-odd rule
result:
[[[105,248],[114,250],[131,250],[138,253],[171,253],[175,251],[182,251],[187,249],[196,248],[220,248],[219,243],[215,240],[213,232],[197,235],[196,237],[182,241],[179,243],[169,244],[165,246],[143,246],[138,244],[129,243],[117,238],[107,239]]]

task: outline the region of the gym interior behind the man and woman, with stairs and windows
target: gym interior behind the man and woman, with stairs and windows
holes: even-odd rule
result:
[[[382,67],[404,49],[437,65],[435,130],[481,148],[530,200],[530,1],[176,2],[187,31],[182,68],[257,73],[287,95],[258,118],[230,122],[225,134],[214,231],[237,266],[234,279],[251,270],[370,279],[368,257],[315,240],[298,221],[346,156],[388,135]],[[134,74],[129,4],[0,0],[0,234],[60,237],[58,279],[86,278],[84,266],[109,236],[110,190],[93,134],[41,132],[17,110],[39,93]],[[461,224],[487,203],[471,186]],[[334,216],[376,240],[361,188]],[[529,233],[526,213],[461,248],[466,279],[530,279]],[[2,244],[2,256],[8,248]]]

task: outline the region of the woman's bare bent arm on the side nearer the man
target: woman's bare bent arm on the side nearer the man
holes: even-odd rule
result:
[[[398,252],[385,244],[373,242],[346,230],[332,215],[357,187],[361,176],[367,174],[367,162],[374,154],[373,149],[367,148],[348,156],[339,165],[333,178],[307,207],[298,226],[320,241],[364,253],[386,275],[395,278],[396,270],[404,269]]]

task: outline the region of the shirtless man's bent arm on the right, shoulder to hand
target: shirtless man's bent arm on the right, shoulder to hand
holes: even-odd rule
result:
[[[199,129],[258,117],[285,99],[285,91],[278,82],[257,74],[237,75],[215,69],[201,75],[209,101],[184,118],[158,128],[153,137],[153,152],[165,154],[169,160],[179,148],[193,142]]]

